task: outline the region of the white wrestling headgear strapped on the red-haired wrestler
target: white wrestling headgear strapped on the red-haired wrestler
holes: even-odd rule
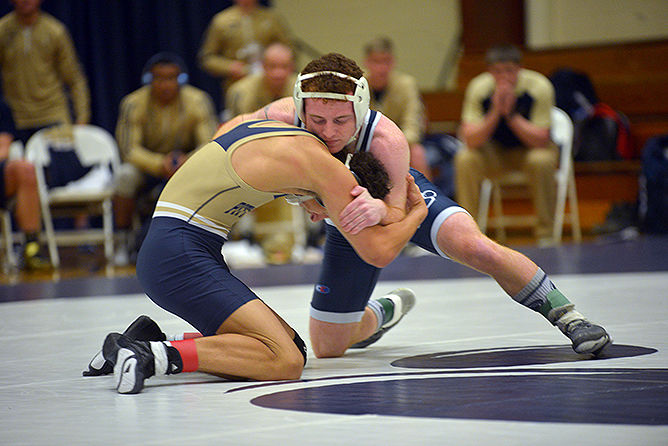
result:
[[[328,74],[354,82],[356,85],[355,92],[350,95],[342,93],[330,93],[324,91],[302,91],[302,81],[314,78],[316,76],[324,76]],[[305,122],[304,120],[305,98],[338,99],[340,101],[352,102],[353,111],[355,112],[355,134],[357,134],[357,131],[360,129],[360,127],[362,127],[362,124],[364,123],[364,117],[369,111],[369,102],[371,101],[371,95],[369,93],[369,83],[364,78],[364,76],[360,77],[359,79],[355,79],[352,76],[348,76],[347,74],[339,73],[337,71],[317,71],[315,73],[300,74],[297,77],[292,99],[295,101],[295,109],[297,110],[297,116],[299,116],[299,119],[301,119],[302,122]]]

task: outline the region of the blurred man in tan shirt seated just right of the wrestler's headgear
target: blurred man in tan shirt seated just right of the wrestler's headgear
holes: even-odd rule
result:
[[[411,167],[431,179],[431,169],[422,146],[426,120],[420,91],[413,76],[394,69],[393,47],[387,37],[378,37],[364,47],[364,76],[371,89],[370,108],[399,126],[408,140]]]

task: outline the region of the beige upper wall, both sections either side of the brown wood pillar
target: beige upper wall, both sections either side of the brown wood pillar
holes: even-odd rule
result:
[[[320,53],[362,62],[364,44],[394,40],[398,69],[424,90],[452,86],[459,0],[273,0],[294,34]],[[567,47],[668,38],[668,0],[526,0],[527,45]],[[301,69],[310,59],[301,56]],[[446,65],[445,76],[442,70]]]

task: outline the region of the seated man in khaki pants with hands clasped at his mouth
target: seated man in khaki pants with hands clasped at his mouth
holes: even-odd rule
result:
[[[466,88],[459,137],[464,148],[455,155],[457,201],[478,212],[480,183],[513,170],[529,178],[538,215],[539,241],[552,234],[559,150],[550,141],[554,88],[540,73],[522,68],[522,53],[502,45],[487,51],[487,72]]]

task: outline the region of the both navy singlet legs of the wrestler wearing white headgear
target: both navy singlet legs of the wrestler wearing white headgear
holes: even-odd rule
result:
[[[417,170],[410,169],[410,173],[429,209],[411,242],[447,258],[438,247],[436,235],[448,217],[466,210]],[[320,277],[311,299],[311,317],[335,324],[359,322],[381,270],[362,260],[336,227],[328,224],[326,231]]]

